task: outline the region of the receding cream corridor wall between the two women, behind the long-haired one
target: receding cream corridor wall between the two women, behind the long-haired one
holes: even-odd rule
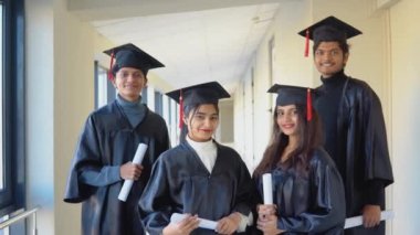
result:
[[[255,57],[234,94],[235,149],[250,171],[260,162],[272,129],[274,95],[266,90],[274,84],[312,86],[312,61],[303,56],[304,39],[297,35],[308,19],[308,1],[284,1],[267,30]],[[309,21],[309,20],[307,20]],[[269,42],[274,38],[273,81],[270,81]],[[253,70],[253,75],[252,75]],[[254,85],[251,86],[252,76]],[[254,104],[252,104],[252,100]]]

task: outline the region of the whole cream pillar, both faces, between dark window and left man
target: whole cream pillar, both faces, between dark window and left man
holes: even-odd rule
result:
[[[25,1],[27,203],[39,234],[77,234],[80,206],[62,202],[81,126],[93,108],[92,30],[65,1]]]

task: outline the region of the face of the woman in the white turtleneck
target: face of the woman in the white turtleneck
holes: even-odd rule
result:
[[[188,127],[188,137],[197,142],[209,141],[219,125],[219,114],[212,104],[200,105],[183,119]]]

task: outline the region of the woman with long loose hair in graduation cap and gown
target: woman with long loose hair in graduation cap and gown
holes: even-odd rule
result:
[[[271,141],[253,179],[259,192],[256,228],[264,234],[342,234],[345,220],[340,175],[321,147],[312,90],[274,85]],[[273,204],[261,204],[262,175],[271,173]]]

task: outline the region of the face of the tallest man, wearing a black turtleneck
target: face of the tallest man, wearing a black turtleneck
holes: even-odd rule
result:
[[[338,42],[321,42],[314,53],[316,70],[324,78],[330,77],[342,71],[348,60],[348,53],[344,54]]]

